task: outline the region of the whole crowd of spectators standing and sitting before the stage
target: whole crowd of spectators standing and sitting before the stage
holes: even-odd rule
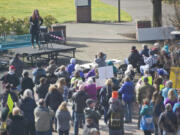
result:
[[[178,65],[180,50],[175,53],[170,48],[168,42],[163,47],[143,45],[141,51],[132,46],[121,81],[119,69],[106,61],[103,52],[95,55],[88,72],[72,58],[67,66],[59,67],[54,60],[46,68],[37,62],[33,77],[16,54],[0,79],[0,133],[69,135],[73,127],[74,135],[79,128],[83,135],[100,135],[99,120],[103,118],[109,135],[123,135],[124,123],[132,123],[133,110],[139,110],[137,126],[145,135],[180,134],[180,97],[169,80],[170,67]],[[113,67],[114,77],[97,86],[98,68],[105,66]]]

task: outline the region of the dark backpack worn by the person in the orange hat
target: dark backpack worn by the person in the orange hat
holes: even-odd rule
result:
[[[109,128],[121,129],[123,128],[123,118],[120,112],[111,112],[109,119]]]

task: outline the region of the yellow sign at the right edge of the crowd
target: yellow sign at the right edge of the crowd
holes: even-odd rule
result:
[[[170,80],[173,82],[173,88],[180,89],[180,67],[171,67]]]

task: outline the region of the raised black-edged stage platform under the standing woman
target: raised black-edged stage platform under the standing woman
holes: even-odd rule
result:
[[[57,61],[58,56],[75,57],[76,48],[67,45],[52,44],[52,47],[42,47],[40,50],[38,48],[33,49],[32,46],[29,46],[11,49],[11,51],[15,54],[21,54],[23,61],[33,65],[39,59],[54,59]],[[69,53],[72,53],[71,56],[69,56]]]

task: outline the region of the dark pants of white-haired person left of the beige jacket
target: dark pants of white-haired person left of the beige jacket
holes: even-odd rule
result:
[[[35,135],[35,123],[34,121],[27,121],[26,129],[25,129],[25,135]]]

